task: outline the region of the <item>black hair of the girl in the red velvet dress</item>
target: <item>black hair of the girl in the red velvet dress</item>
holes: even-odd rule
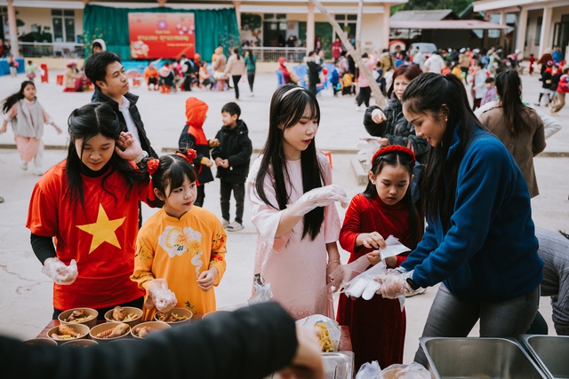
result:
[[[403,153],[403,152],[389,152],[386,154],[381,154],[375,161],[372,162],[372,168],[370,172],[373,173],[374,177],[380,175],[381,170],[385,166],[393,166],[403,167],[409,173],[409,186],[407,186],[407,191],[405,192],[405,196],[401,201],[405,202],[407,209],[409,210],[409,227],[411,229],[411,241],[413,243],[417,243],[419,240],[419,213],[415,208],[415,203],[413,202],[413,196],[411,195],[411,178],[413,177],[413,168],[415,167],[415,161],[411,157],[411,155]],[[377,193],[377,187],[372,183],[372,180],[368,178],[367,186],[364,190],[364,196],[370,200],[375,198]]]

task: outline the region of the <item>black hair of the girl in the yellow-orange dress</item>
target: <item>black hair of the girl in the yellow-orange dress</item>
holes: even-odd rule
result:
[[[186,178],[188,178],[190,183],[196,181],[196,169],[192,163],[184,158],[186,153],[186,149],[180,149],[176,154],[162,155],[159,159],[158,170],[152,174],[152,186],[164,198],[170,196],[173,189],[182,186]],[[166,193],[166,188],[170,189],[168,193]]]

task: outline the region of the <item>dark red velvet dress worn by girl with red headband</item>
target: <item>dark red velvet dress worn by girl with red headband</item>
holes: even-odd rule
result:
[[[379,196],[370,200],[358,193],[349,204],[340,233],[342,249],[350,252],[349,262],[355,261],[373,249],[354,248],[359,233],[378,232],[384,239],[397,237],[409,249],[412,241],[409,211],[403,201],[387,205]],[[421,235],[417,233],[418,237]],[[397,256],[397,265],[405,261],[408,253]],[[379,295],[371,300],[340,295],[338,322],[349,327],[356,355],[356,371],[365,362],[377,360],[381,368],[403,363],[405,346],[405,310],[400,311],[399,300],[384,299]]]

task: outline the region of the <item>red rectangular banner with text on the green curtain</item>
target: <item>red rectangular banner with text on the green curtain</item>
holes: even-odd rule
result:
[[[194,13],[129,13],[132,59],[193,58],[196,52]]]

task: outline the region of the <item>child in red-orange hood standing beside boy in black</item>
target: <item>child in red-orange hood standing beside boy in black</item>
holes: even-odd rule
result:
[[[181,130],[178,146],[180,149],[192,148],[196,150],[194,166],[197,171],[197,197],[194,205],[204,206],[205,183],[213,181],[211,167],[213,162],[210,159],[210,149],[220,146],[217,139],[208,140],[205,138],[204,122],[207,117],[207,104],[196,98],[186,99],[186,125]]]

